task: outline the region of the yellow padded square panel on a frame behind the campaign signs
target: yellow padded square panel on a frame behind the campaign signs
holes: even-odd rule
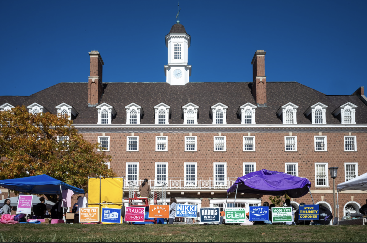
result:
[[[102,208],[122,208],[123,194],[124,177],[88,177],[88,207],[99,207],[100,222]],[[122,212],[120,215],[122,223]]]

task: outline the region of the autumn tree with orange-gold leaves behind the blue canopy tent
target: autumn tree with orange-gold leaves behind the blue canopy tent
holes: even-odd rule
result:
[[[83,139],[67,116],[29,113],[25,106],[0,111],[0,178],[46,174],[87,189],[88,176],[116,176],[99,144]]]

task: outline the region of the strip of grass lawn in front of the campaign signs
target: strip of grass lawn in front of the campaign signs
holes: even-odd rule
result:
[[[367,226],[0,225],[1,242],[367,242]]]

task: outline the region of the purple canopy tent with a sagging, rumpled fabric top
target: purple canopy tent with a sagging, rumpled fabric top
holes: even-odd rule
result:
[[[236,182],[227,190],[228,194],[236,192],[265,194],[270,196],[283,196],[287,194],[292,198],[298,198],[310,192],[311,182],[304,177],[290,175],[284,172],[259,170],[237,178]],[[313,202],[312,194],[311,199]],[[227,205],[227,202],[226,202]]]

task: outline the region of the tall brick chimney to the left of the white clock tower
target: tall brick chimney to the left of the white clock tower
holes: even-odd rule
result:
[[[90,74],[88,77],[88,107],[95,107],[103,94],[102,68],[103,60],[98,51],[89,52]]]

